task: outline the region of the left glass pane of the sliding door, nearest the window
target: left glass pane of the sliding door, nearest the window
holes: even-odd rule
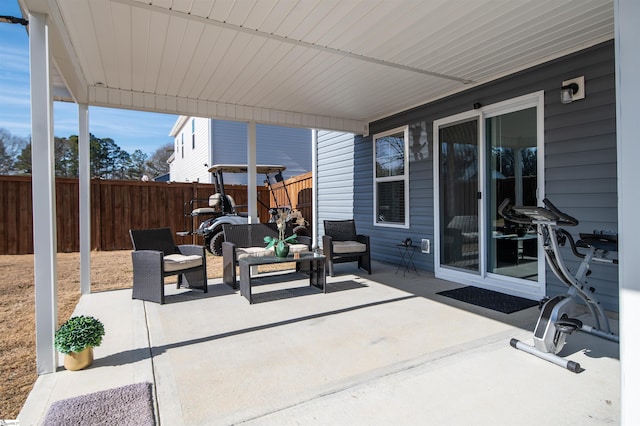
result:
[[[439,129],[440,264],[479,272],[478,120]]]

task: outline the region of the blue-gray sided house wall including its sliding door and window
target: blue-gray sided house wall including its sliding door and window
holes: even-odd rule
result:
[[[560,88],[575,77],[584,77],[586,96],[563,104]],[[430,252],[413,259],[420,269],[539,299],[566,287],[545,269],[535,239],[499,238],[504,198],[549,198],[580,220],[567,228],[576,237],[617,230],[613,40],[370,123],[369,131],[319,132],[318,224],[322,235],[322,220],[353,217],[370,235],[374,259],[397,263],[397,243],[429,240]],[[575,271],[577,258],[568,248],[563,255]],[[617,267],[592,269],[589,285],[618,311]]]

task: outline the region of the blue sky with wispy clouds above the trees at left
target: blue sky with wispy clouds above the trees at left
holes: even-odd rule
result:
[[[21,17],[16,0],[1,0],[0,15]],[[78,106],[54,102],[54,134],[78,134]],[[89,132],[111,138],[128,153],[136,149],[149,155],[170,142],[169,132],[178,116],[89,107]],[[22,25],[0,23],[0,128],[12,135],[31,135],[29,92],[29,37]]]

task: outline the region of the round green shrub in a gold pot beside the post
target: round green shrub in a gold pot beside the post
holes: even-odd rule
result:
[[[54,344],[65,354],[67,370],[82,370],[93,362],[93,348],[100,346],[104,325],[94,317],[80,315],[69,318],[56,331]]]

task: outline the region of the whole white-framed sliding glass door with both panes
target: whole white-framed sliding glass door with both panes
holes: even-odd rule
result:
[[[498,214],[543,194],[542,93],[434,122],[436,276],[524,297],[544,293],[534,226]]]

